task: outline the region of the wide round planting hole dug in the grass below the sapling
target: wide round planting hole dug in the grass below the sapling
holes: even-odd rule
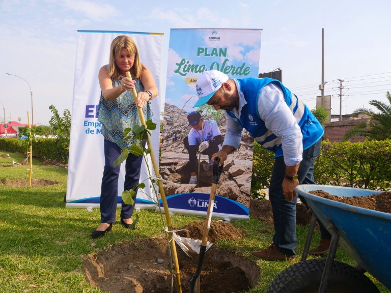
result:
[[[217,224],[220,225],[223,224]],[[190,223],[184,228],[198,226]],[[230,224],[222,226],[223,230],[228,226],[234,228]],[[215,239],[223,238],[218,234],[221,229],[214,229]],[[232,235],[240,237],[242,234],[233,232]],[[198,254],[191,253],[190,258],[177,246],[177,255],[182,292],[188,292],[190,278],[197,270]],[[90,255],[85,259],[84,270],[90,284],[109,292],[171,291],[170,256],[165,235],[124,243]],[[205,254],[200,276],[201,292],[247,291],[257,284],[258,278],[256,262],[213,245]],[[175,277],[174,292],[177,292]]]

